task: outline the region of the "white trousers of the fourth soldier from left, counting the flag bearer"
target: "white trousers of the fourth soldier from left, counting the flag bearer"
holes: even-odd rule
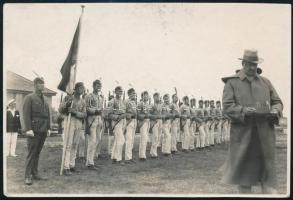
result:
[[[132,159],[132,149],[136,129],[136,119],[132,119],[126,127],[125,134],[125,160]]]

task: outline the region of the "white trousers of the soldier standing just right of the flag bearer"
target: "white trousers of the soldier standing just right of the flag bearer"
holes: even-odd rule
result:
[[[88,124],[90,127],[90,134],[87,136],[87,159],[86,165],[94,165],[95,156],[98,157],[97,148],[102,145],[103,121],[101,116],[89,116]]]

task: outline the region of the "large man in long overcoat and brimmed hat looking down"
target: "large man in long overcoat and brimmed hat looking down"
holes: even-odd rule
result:
[[[222,78],[223,112],[231,119],[230,152],[224,183],[237,184],[240,193],[250,193],[261,183],[263,193],[276,193],[274,124],[283,104],[272,83],[257,74],[262,62],[256,50],[245,50],[243,69]]]

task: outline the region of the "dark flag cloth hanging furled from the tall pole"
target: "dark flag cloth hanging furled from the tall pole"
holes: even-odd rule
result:
[[[74,71],[73,66],[76,64],[78,44],[79,44],[79,32],[80,32],[80,18],[77,24],[77,28],[74,33],[74,37],[70,46],[69,53],[65,62],[60,70],[62,79],[58,85],[58,89],[63,92],[72,92],[74,87]]]

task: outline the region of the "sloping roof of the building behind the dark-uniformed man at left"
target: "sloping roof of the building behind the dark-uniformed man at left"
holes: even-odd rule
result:
[[[7,90],[15,91],[19,93],[30,93],[33,92],[34,89],[34,82],[18,75],[12,71],[7,71]],[[53,90],[48,88],[44,89],[44,94],[49,96],[55,96],[57,93]]]

